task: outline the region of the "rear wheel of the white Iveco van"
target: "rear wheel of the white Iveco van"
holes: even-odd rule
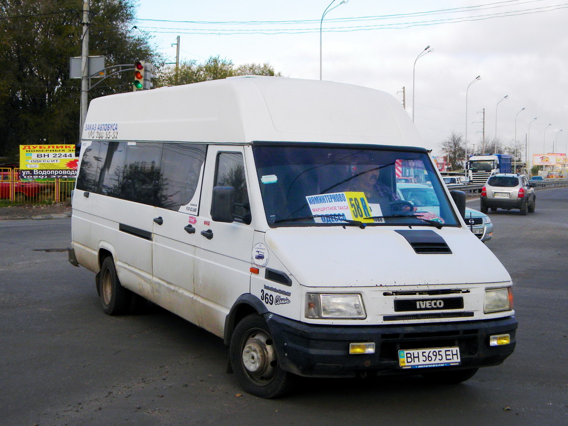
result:
[[[125,315],[130,313],[132,293],[120,285],[111,256],[106,257],[103,261],[99,279],[99,295],[105,314]]]

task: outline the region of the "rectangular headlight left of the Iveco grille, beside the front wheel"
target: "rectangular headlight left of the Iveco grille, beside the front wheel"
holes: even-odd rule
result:
[[[306,318],[364,319],[360,294],[306,294]]]

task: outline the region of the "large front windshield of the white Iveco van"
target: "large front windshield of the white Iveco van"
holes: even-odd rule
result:
[[[254,143],[253,153],[270,226],[459,225],[425,150]]]

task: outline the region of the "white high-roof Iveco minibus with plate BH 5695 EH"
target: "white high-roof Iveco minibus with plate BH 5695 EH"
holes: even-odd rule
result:
[[[427,148],[391,95],[327,81],[94,99],[69,260],[107,314],[145,298],[224,339],[254,395],[295,375],[465,381],[515,348],[512,282]],[[428,207],[394,195],[401,161]],[[380,195],[354,185],[369,171]]]

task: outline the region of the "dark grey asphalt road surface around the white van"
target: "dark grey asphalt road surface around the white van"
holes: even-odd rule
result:
[[[519,320],[503,365],[456,386],[299,379],[277,400],[245,394],[222,341],[160,308],[103,314],[94,274],[62,251],[70,219],[0,221],[0,424],[566,425],[567,211],[568,189],[554,189],[528,216],[490,214]]]

